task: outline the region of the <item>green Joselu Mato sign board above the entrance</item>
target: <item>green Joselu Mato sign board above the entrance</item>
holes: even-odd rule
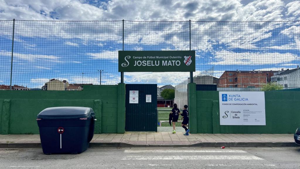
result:
[[[195,72],[195,51],[119,51],[119,72]]]

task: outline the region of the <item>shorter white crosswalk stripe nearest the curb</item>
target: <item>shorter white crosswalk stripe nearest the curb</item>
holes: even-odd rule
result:
[[[201,150],[201,149],[180,149],[180,150],[174,150],[174,149],[156,149],[156,150],[124,150],[124,152],[127,153],[140,153],[140,152],[166,152],[166,153],[171,153],[171,152],[245,152],[243,150],[225,150],[225,149],[214,149],[214,150]]]

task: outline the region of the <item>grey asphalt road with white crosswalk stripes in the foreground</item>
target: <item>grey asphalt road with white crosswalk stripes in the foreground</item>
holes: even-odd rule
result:
[[[0,168],[300,168],[300,147],[89,148],[77,155],[0,149]]]

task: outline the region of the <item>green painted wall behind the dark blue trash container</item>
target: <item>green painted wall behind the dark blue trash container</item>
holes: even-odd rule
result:
[[[38,113],[57,106],[91,107],[97,118],[95,133],[122,133],[118,122],[122,128],[125,117],[118,119],[118,114],[125,114],[125,99],[120,99],[122,93],[125,98],[125,87],[122,92],[118,86],[84,86],[83,91],[0,91],[0,134],[38,134]]]

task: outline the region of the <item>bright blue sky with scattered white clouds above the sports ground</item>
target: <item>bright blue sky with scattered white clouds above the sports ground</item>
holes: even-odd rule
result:
[[[189,50],[191,20],[194,75],[292,69],[300,62],[300,1],[295,0],[0,0],[0,4],[0,84],[10,83],[13,18],[12,83],[30,88],[40,88],[52,78],[119,83],[123,19],[125,50]],[[125,72],[124,78],[125,83],[162,86],[188,77],[189,72]]]

